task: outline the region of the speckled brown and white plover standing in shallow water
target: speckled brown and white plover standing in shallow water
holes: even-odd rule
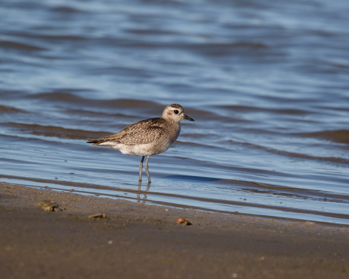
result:
[[[194,121],[184,114],[183,107],[172,104],[165,107],[161,117],[149,118],[126,126],[119,133],[102,138],[92,138],[91,146],[102,145],[119,150],[122,154],[142,156],[139,164],[139,182],[142,181],[143,160],[146,159],[146,173],[148,182],[149,156],[160,154],[169,149],[177,140],[180,132],[179,122],[183,119]]]

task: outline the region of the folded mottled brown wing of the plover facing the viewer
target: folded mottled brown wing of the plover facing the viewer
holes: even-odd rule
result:
[[[163,124],[162,118],[142,120],[126,126],[119,133],[103,138],[92,139],[93,142],[116,141],[124,144],[147,144],[158,140],[164,129],[158,125]]]

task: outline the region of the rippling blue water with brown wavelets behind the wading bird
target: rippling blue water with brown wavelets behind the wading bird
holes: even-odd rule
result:
[[[347,0],[0,3],[0,180],[349,224]],[[84,139],[179,103],[141,157]]]

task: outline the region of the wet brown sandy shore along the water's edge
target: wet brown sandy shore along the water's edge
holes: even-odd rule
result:
[[[54,200],[62,211],[35,204]],[[88,218],[105,213],[106,218]],[[176,224],[178,217],[192,225]],[[0,182],[1,278],[349,278],[349,228]]]

